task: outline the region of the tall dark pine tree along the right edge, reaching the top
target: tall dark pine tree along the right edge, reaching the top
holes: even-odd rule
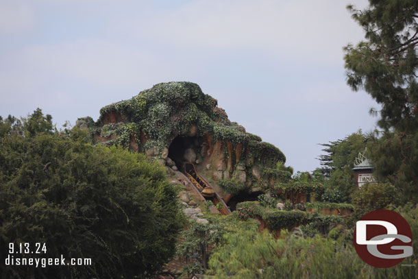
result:
[[[371,157],[381,181],[418,200],[418,1],[369,0],[348,6],[365,40],[345,48],[347,83],[364,88],[382,107]],[[376,112],[376,111],[375,111]],[[377,112],[376,112],[377,113]]]

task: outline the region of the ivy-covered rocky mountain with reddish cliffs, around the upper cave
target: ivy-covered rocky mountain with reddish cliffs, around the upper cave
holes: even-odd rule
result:
[[[94,143],[144,152],[174,170],[198,162],[206,178],[234,179],[249,188],[274,184],[276,164],[286,161],[280,149],[231,122],[216,99],[190,82],[156,84],[101,108],[96,122],[84,117],[77,125],[90,129]]]

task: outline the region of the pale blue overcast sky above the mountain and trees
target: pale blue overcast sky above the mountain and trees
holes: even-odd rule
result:
[[[60,127],[153,84],[195,82],[312,171],[318,143],[376,125],[376,102],[345,84],[343,46],[363,38],[348,3],[367,1],[2,0],[0,115],[39,107]]]

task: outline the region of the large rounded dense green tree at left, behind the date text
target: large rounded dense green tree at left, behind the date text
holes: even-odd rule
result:
[[[0,121],[0,278],[148,278],[173,256],[182,215],[160,167],[85,143],[77,129],[53,133],[40,110],[18,133],[11,120]],[[92,265],[5,265],[8,243],[46,243],[46,254],[14,258],[62,254]]]

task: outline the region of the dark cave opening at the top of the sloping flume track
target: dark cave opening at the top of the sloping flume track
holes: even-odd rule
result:
[[[183,171],[184,162],[195,163],[199,139],[196,136],[176,136],[169,147],[169,158]]]

